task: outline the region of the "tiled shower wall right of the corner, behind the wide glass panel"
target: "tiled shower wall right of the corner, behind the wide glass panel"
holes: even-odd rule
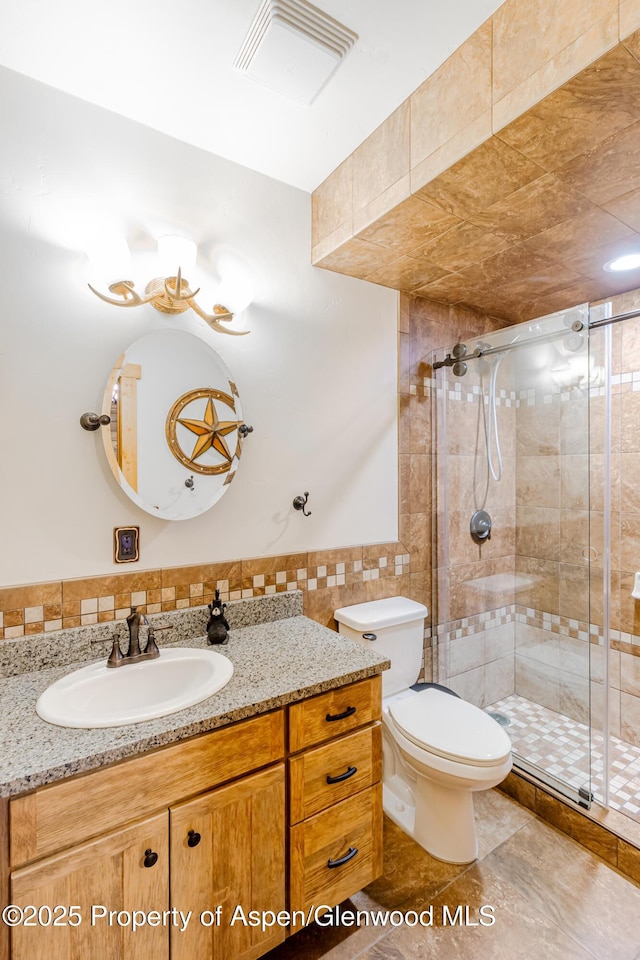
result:
[[[515,692],[588,723],[588,385],[520,393],[516,463]]]

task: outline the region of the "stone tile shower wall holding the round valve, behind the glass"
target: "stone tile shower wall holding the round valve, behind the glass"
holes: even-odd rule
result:
[[[451,344],[449,344],[449,347]],[[504,364],[504,361],[503,361]],[[503,473],[488,475],[485,441],[488,366],[470,361],[463,377],[438,376],[437,562],[439,676],[486,706],[514,690],[515,416],[508,375],[496,397]],[[485,393],[483,394],[483,386]],[[474,543],[472,514],[486,509],[491,538]]]

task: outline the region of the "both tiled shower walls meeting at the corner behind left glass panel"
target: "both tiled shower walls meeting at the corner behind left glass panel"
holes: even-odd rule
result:
[[[446,415],[438,425],[440,676],[479,706],[516,692],[585,721],[589,398],[575,385],[524,381],[516,355],[506,354],[496,482],[487,479],[488,373],[472,361],[463,378],[449,373],[437,388]],[[478,545],[469,520],[483,506],[493,529]]]

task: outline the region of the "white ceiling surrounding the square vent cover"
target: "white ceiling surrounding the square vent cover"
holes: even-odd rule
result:
[[[5,0],[0,64],[313,190],[502,2],[321,0],[359,39],[310,107],[233,66],[261,0]]]

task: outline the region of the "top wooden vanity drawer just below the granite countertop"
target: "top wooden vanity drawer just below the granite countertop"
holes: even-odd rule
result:
[[[379,676],[339,687],[289,707],[289,750],[297,753],[379,720],[382,681]]]

